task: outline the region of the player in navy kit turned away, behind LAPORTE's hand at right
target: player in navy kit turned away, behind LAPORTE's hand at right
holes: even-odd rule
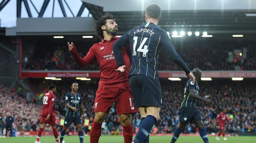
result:
[[[189,79],[185,86],[185,93],[182,105],[180,106],[180,116],[179,121],[180,125],[174,131],[172,136],[171,143],[175,143],[175,141],[179,138],[180,133],[185,129],[188,123],[194,123],[196,127],[199,129],[199,134],[203,139],[204,143],[209,143],[209,139],[205,130],[205,126],[203,125],[203,118],[201,116],[200,111],[196,107],[197,100],[206,102],[209,105],[212,105],[212,100],[203,98],[199,96],[199,86],[198,81],[202,77],[202,71],[199,68],[194,68],[192,71],[195,77],[195,83]]]

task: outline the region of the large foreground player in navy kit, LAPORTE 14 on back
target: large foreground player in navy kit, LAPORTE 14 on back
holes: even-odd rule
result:
[[[139,107],[142,117],[134,143],[149,142],[149,132],[159,120],[162,104],[162,92],[158,78],[158,52],[162,46],[172,61],[180,66],[194,83],[194,76],[178,55],[167,32],[157,26],[162,18],[161,8],[157,4],[147,6],[146,23],[135,27],[120,37],[113,45],[113,52],[118,63],[118,72],[124,72],[121,55],[122,46],[131,45],[131,68],[129,84],[134,97],[134,106]]]

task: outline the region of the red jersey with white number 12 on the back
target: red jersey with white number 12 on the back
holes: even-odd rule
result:
[[[54,114],[53,111],[53,104],[56,96],[53,94],[52,91],[48,91],[44,95],[44,101],[43,101],[43,111],[41,115],[48,115],[48,114]]]

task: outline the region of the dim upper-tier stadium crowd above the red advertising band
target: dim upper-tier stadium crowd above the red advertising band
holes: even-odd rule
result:
[[[256,44],[254,42],[200,41],[195,44],[191,43],[191,41],[184,43],[184,48],[174,44],[177,52],[189,67],[197,65],[202,70],[256,70],[256,57],[254,56]],[[87,45],[76,43],[75,45],[80,56],[84,57],[93,43],[89,42]],[[243,47],[247,48],[244,53]],[[241,50],[242,56],[233,53],[229,57],[229,52],[237,49]],[[164,49],[160,50],[159,55],[161,55],[158,57],[159,70],[181,70],[175,63],[168,60],[169,55]],[[245,55],[246,58],[243,59]],[[239,66],[238,69],[235,66]],[[85,68],[79,68],[72,54],[68,52],[67,46],[52,45],[52,47],[36,48],[34,54],[29,57],[25,70],[99,70],[99,68],[97,62]]]

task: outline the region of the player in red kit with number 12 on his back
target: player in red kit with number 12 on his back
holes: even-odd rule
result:
[[[56,86],[51,84],[48,88],[49,88],[49,91],[44,95],[43,111],[41,113],[41,118],[40,118],[41,127],[38,131],[35,143],[41,143],[40,137],[47,123],[49,123],[53,129],[53,135],[56,140],[56,143],[60,142],[58,139],[58,131],[56,130],[56,123],[55,123],[56,119],[54,115],[54,113],[56,114],[60,114],[60,113],[58,111],[53,110],[53,104],[56,98],[53,93],[56,91]]]

